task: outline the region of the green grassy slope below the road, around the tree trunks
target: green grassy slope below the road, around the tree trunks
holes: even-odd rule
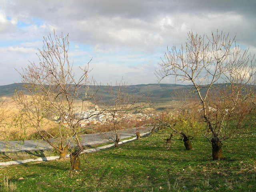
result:
[[[20,192],[256,191],[256,134],[224,142],[222,161],[211,160],[204,138],[186,151],[178,136],[166,146],[169,134],[160,130],[119,148],[82,154],[77,172],[70,171],[69,160],[29,163],[0,168],[0,180],[8,175]]]

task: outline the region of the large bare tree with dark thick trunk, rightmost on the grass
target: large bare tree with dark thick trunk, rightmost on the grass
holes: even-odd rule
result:
[[[212,157],[223,158],[222,141],[230,138],[246,115],[239,114],[244,103],[243,88],[255,75],[255,59],[248,49],[241,50],[235,37],[224,32],[200,36],[188,33],[186,44],[173,46],[164,54],[156,72],[159,80],[173,76],[175,81],[191,83],[198,94],[211,138]],[[224,84],[220,84],[224,83]]]

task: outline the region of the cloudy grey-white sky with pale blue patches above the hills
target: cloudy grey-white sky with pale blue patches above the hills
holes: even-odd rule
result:
[[[70,59],[98,83],[158,83],[166,47],[218,30],[256,53],[256,0],[0,0],[0,85],[21,82],[42,38],[69,34]],[[174,83],[171,77],[161,83]]]

